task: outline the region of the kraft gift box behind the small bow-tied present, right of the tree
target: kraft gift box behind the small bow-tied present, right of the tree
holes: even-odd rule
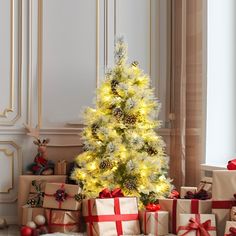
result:
[[[169,229],[176,234],[179,214],[211,214],[212,201],[198,199],[159,199],[161,210],[169,212]]]

